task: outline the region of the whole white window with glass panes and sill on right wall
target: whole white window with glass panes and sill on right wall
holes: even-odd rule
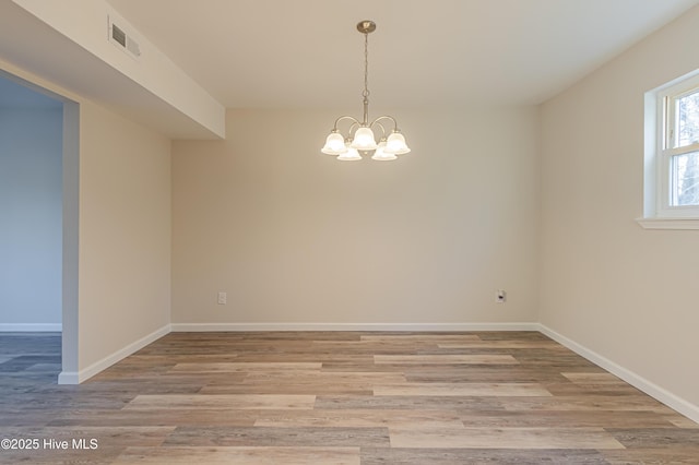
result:
[[[699,74],[645,95],[647,228],[699,229]]]

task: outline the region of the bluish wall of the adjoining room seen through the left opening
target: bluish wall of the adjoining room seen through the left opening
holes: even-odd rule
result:
[[[0,329],[61,324],[62,109],[0,108]]]

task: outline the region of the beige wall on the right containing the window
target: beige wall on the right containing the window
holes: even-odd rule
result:
[[[543,324],[699,405],[698,231],[644,230],[643,94],[699,68],[699,9],[542,107]]]

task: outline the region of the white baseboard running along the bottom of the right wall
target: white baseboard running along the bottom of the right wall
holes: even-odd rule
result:
[[[609,360],[606,357],[601,356],[600,354],[593,350],[590,350],[583,345],[578,344],[574,341],[569,339],[568,337],[561,334],[558,334],[557,332],[555,332],[548,326],[538,324],[538,331],[541,331],[543,334],[547,335],[552,339],[556,341],[557,343],[566,346],[567,348],[580,355],[581,357],[587,358],[593,363],[604,368],[612,374],[623,379],[627,383],[631,384],[633,388],[640,391],[643,391],[645,394],[650,395],[656,401],[662,402],[663,404],[667,405],[670,408],[680,413],[682,415],[686,416],[692,421],[696,421],[699,424],[699,406],[694,405],[690,402],[687,402],[684,398],[676,396],[675,394],[664,390],[657,384],[652,383],[651,381],[647,380],[643,377],[640,377],[633,371],[628,370],[621,367],[620,365],[615,363],[614,361]]]

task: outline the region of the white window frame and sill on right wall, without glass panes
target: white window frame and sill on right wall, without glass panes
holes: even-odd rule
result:
[[[699,205],[672,205],[673,157],[699,151],[699,143],[684,147],[671,144],[670,128],[675,130],[675,102],[699,91],[699,70],[673,80],[645,94],[645,169],[643,217],[638,223],[648,229],[699,229]]]

